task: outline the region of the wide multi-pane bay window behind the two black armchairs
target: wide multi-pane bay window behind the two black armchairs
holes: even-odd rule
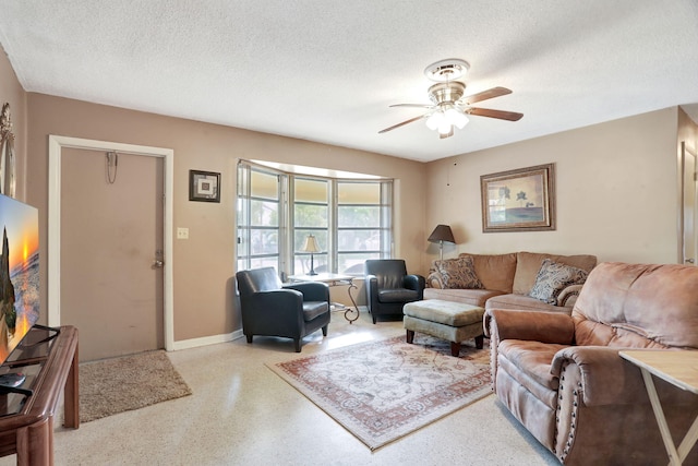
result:
[[[281,277],[310,272],[302,251],[314,235],[315,272],[363,275],[366,259],[390,258],[393,180],[289,174],[238,165],[238,270],[274,266]]]

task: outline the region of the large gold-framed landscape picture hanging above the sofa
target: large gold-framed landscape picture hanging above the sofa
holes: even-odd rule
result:
[[[555,165],[480,177],[482,231],[555,229]]]

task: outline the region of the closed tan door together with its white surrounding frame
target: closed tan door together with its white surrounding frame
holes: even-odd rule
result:
[[[172,349],[172,156],[167,148],[49,136],[48,324],[80,322],[83,360]],[[131,214],[141,204],[148,206],[145,217],[134,224]],[[127,215],[119,219],[119,213]],[[157,217],[159,229],[148,216]],[[144,237],[133,239],[136,230]]]

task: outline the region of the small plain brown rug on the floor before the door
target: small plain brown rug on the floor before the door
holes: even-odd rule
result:
[[[80,421],[191,395],[165,351],[80,365]]]

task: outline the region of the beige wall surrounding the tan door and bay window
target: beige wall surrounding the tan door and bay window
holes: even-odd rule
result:
[[[395,178],[395,251],[398,256],[407,260],[408,267],[422,267],[420,247],[424,238],[425,210],[423,174],[420,170],[422,164],[41,94],[28,94],[27,101],[31,129],[28,198],[31,203],[39,207],[43,216],[43,253],[47,247],[49,134],[169,147],[174,151],[174,227],[188,227],[190,230],[189,240],[174,239],[172,263],[176,342],[221,335],[241,326],[234,308],[231,280],[236,272],[234,193],[236,164],[239,158]],[[189,201],[190,169],[221,172],[219,204]],[[44,279],[46,280],[45,276]]]

